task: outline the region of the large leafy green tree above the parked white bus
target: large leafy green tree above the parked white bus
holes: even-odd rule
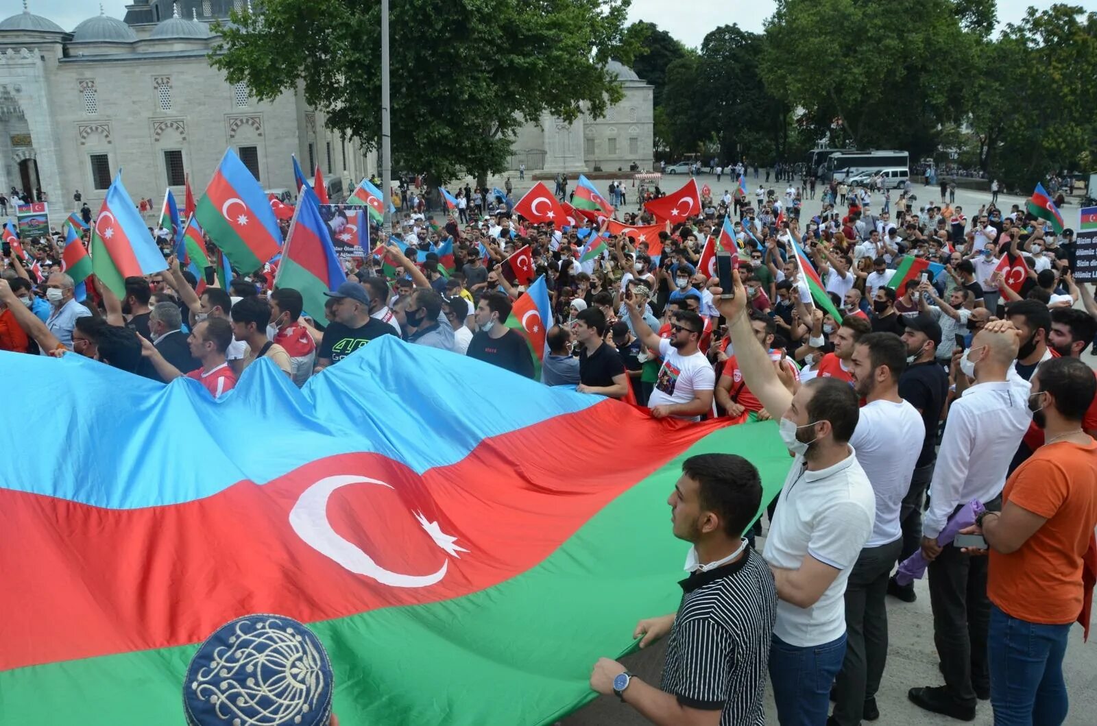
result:
[[[958,12],[952,0],[778,0],[761,71],[821,129],[839,118],[858,147],[932,152],[963,112],[973,38]]]

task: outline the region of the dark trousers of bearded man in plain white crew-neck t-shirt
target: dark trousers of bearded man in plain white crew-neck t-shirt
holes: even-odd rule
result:
[[[903,538],[861,551],[846,582],[846,657],[835,684],[834,718],[861,723],[864,701],[880,690],[887,661],[887,576]]]

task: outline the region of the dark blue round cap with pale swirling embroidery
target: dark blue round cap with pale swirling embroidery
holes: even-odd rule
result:
[[[183,682],[188,726],[339,726],[331,660],[303,623],[246,615],[194,654]]]

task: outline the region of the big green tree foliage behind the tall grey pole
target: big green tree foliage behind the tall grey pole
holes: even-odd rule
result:
[[[443,183],[507,168],[514,133],[548,112],[601,116],[632,59],[631,0],[402,0],[389,11],[394,166]],[[367,148],[381,134],[376,0],[264,0],[234,12],[211,63],[261,100],[298,87]]]

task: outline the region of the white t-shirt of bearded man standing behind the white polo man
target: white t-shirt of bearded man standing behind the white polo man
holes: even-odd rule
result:
[[[900,507],[911,488],[911,475],[921,453],[926,424],[907,401],[874,400],[861,407],[849,445],[877,496],[877,517],[866,547],[879,547],[903,536]]]

